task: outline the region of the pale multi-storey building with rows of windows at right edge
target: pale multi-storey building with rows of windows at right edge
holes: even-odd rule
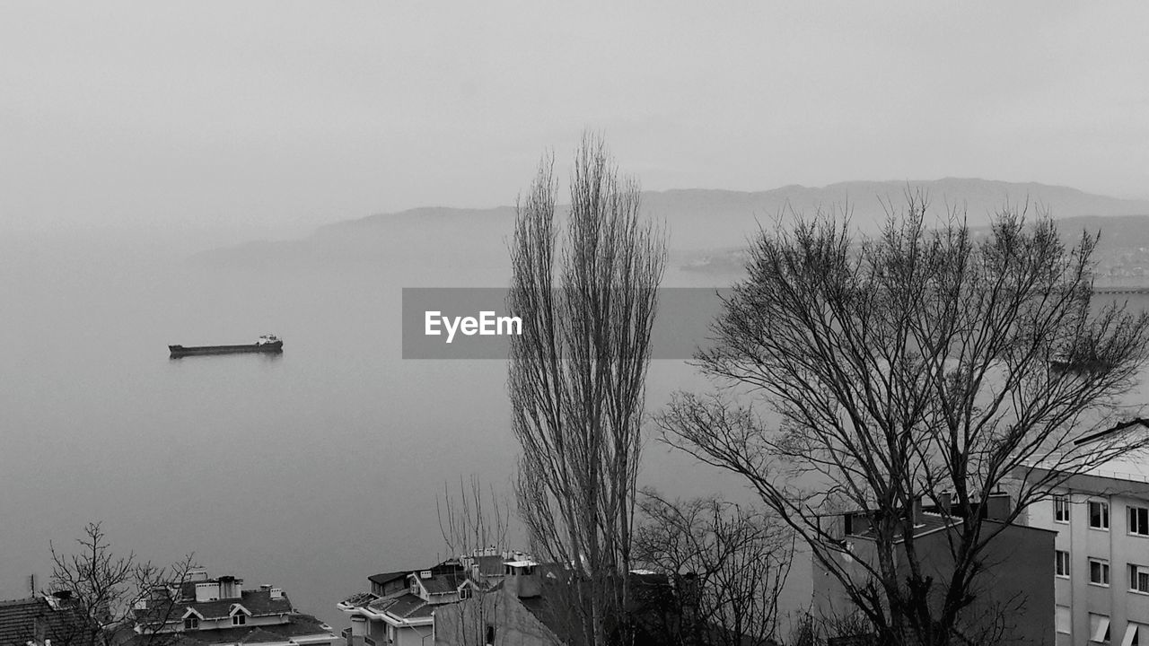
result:
[[[1025,522],[1056,532],[1056,645],[1149,646],[1149,456],[1069,476],[1054,493]]]

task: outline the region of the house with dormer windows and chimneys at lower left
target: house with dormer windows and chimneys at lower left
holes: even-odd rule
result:
[[[338,639],[331,626],[295,610],[282,589],[242,585],[234,576],[194,570],[157,586],[133,612],[136,641],[172,635],[179,646],[331,646]]]

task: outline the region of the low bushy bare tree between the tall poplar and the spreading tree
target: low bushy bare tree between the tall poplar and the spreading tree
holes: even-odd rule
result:
[[[671,577],[665,644],[774,644],[794,535],[777,518],[717,498],[643,491],[635,561]]]

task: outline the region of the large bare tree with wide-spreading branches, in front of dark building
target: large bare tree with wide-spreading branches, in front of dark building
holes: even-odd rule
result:
[[[953,215],[931,230],[924,197],[908,202],[859,244],[820,215],[763,232],[696,357],[726,391],[677,395],[661,424],[745,477],[879,643],[976,643],[994,539],[1067,477],[1144,446],[1124,431],[1074,440],[1120,418],[1149,317],[1090,302],[1096,236],[1070,248],[1047,216],[1027,223],[1017,208],[984,234]],[[982,503],[1013,477],[1016,506],[987,522]],[[908,510],[942,493],[955,521],[939,575]],[[843,509],[871,518],[872,562],[843,564],[848,545],[822,522]]]

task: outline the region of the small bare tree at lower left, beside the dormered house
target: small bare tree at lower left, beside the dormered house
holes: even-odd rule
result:
[[[136,632],[138,613],[146,610],[147,624],[169,621],[178,594],[171,586],[183,585],[192,569],[192,556],[170,567],[140,561],[134,552],[115,554],[100,523],[88,523],[76,539],[71,553],[52,552],[51,593],[71,605],[76,621],[57,629],[53,643],[61,646],[105,646],[131,638],[139,646],[172,644],[176,633],[151,630]]]

